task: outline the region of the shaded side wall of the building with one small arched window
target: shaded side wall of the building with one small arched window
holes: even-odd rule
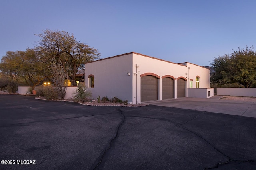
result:
[[[130,73],[130,76],[127,74]],[[97,99],[114,96],[132,102],[132,54],[108,58],[85,64],[85,85],[88,75],[94,75],[94,88],[89,88]]]

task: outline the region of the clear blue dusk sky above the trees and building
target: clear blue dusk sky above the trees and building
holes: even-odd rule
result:
[[[208,66],[256,47],[256,0],[2,0],[0,58],[33,48],[44,29],[66,31],[101,58],[137,52]]]

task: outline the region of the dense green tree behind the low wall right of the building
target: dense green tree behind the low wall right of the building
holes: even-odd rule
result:
[[[230,54],[215,58],[210,65],[213,68],[213,84],[239,83],[249,88],[256,83],[256,52],[253,47],[238,47]]]

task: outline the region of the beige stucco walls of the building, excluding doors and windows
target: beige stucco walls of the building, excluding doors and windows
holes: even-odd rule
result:
[[[136,64],[138,64],[138,68],[136,68]],[[210,86],[210,70],[207,68],[190,63],[176,64],[138,53],[128,53],[86,63],[85,84],[88,86],[88,75],[92,74],[94,75],[94,88],[89,88],[89,90],[92,92],[93,98],[96,99],[98,95],[101,98],[117,96],[122,100],[128,100],[128,102],[140,103],[140,76],[147,73],[154,73],[160,77],[158,79],[158,100],[162,100],[162,76],[170,75],[175,78],[174,98],[177,98],[177,79],[180,77],[186,80],[186,96],[188,96],[189,78],[194,79],[194,87],[196,86],[196,76],[200,76],[200,87],[208,88]]]

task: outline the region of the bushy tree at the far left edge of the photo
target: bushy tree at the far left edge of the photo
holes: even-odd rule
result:
[[[14,77],[18,82],[20,78],[24,79],[32,90],[50,75],[34,49],[7,51],[1,59],[0,70],[2,73]]]

